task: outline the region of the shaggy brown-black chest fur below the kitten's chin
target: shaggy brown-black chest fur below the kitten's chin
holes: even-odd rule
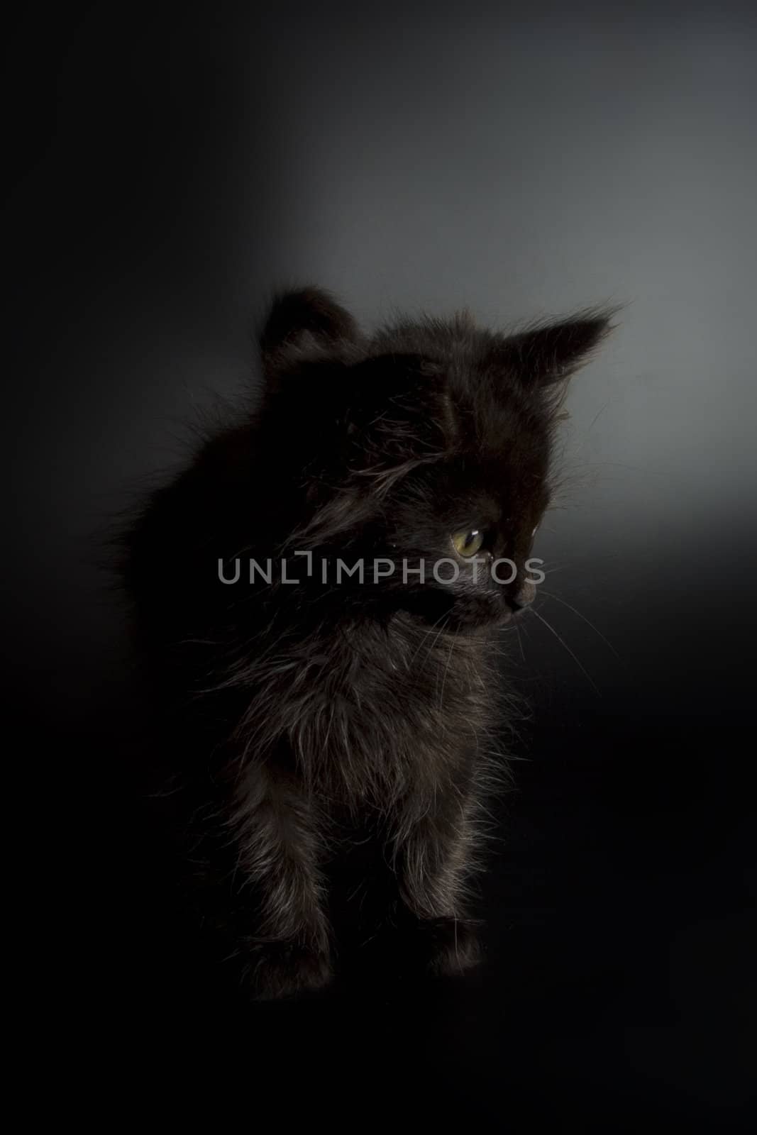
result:
[[[250,751],[284,742],[309,788],[347,806],[428,800],[496,747],[499,682],[483,637],[399,617],[321,636],[264,674],[245,714]]]

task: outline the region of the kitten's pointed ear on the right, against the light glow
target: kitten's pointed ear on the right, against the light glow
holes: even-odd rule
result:
[[[613,330],[614,310],[586,312],[511,335],[495,350],[497,361],[523,382],[549,386],[580,370]]]

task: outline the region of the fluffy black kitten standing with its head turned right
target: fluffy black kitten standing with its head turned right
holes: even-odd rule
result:
[[[256,995],[327,983],[381,927],[431,972],[476,961],[497,631],[533,597],[564,379],[607,329],[365,336],[326,293],[284,295],[259,406],[131,528],[205,914]]]

